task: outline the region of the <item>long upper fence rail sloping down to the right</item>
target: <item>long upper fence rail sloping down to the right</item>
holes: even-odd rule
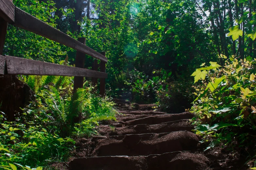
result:
[[[17,7],[15,10],[15,22],[13,23],[13,25],[33,32],[35,34],[41,35],[53,41],[59,42],[65,46],[88,54],[101,61],[107,62],[107,58],[102,54],[80,43],[71,36],[62,33],[60,30],[57,30],[50,25],[44,23],[43,21],[33,17],[32,15],[29,15],[28,13]]]

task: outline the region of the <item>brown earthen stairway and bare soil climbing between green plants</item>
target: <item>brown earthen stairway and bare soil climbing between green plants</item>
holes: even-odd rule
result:
[[[103,122],[98,135],[77,139],[73,157],[55,163],[69,170],[245,170],[239,151],[206,146],[193,132],[193,114],[168,114],[155,105],[119,103],[117,122]]]

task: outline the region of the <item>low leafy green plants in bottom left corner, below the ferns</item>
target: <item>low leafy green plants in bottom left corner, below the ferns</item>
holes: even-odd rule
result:
[[[34,121],[27,120],[26,124],[22,122],[1,123],[0,167],[13,163],[20,169],[26,169],[20,164],[40,166],[67,156],[69,146],[75,143],[73,139],[61,138],[57,134],[49,133],[41,125],[41,118],[31,113],[30,110],[26,110],[25,115],[30,118],[34,116]]]

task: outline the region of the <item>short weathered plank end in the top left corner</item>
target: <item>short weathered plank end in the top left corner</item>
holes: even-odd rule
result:
[[[9,23],[15,20],[15,5],[12,0],[0,0],[0,17]]]

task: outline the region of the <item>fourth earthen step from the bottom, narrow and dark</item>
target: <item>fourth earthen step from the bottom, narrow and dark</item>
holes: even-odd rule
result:
[[[169,121],[182,120],[182,119],[192,119],[194,117],[193,113],[184,112],[179,114],[164,114],[149,116],[140,119],[128,120],[125,121],[126,126],[137,125],[137,124],[159,124]]]

